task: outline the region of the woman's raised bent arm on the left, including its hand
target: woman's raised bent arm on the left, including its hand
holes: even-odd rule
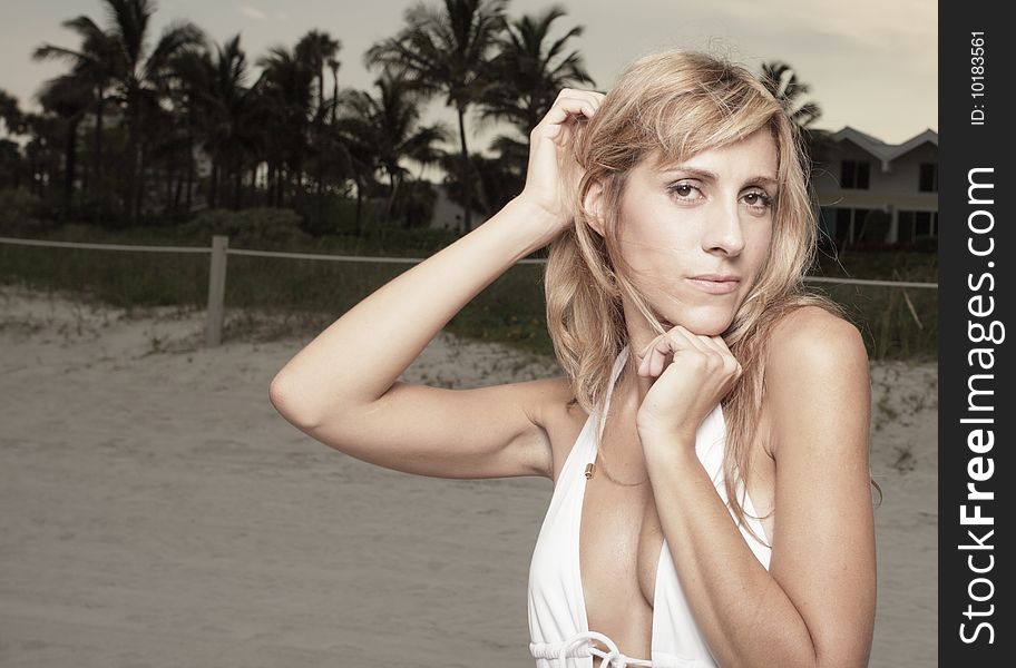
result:
[[[567,140],[568,115],[592,116],[602,97],[565,89],[530,135],[526,190],[300,351],[272,381],[279,412],[326,445],[399,471],[549,477],[553,459],[540,414],[567,401],[564,379],[447,390],[398,377],[467,303],[559,234],[565,216],[555,206],[557,184],[546,184],[558,178],[550,161]]]

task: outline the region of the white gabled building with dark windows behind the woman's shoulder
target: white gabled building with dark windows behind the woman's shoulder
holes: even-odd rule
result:
[[[812,170],[827,240],[843,248],[938,237],[938,132],[886,144],[847,126],[828,139]]]

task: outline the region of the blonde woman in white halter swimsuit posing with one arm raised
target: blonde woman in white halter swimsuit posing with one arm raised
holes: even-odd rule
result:
[[[563,90],[530,140],[522,193],[312,341],[274,405],[382,466],[551,478],[538,666],[867,665],[868,360],[802,291],[815,222],[785,111],[744,68],[668,50],[607,96]],[[397,381],[548,244],[565,376]]]

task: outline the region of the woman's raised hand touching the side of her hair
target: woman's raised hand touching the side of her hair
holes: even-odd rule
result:
[[[595,90],[563,88],[550,110],[529,132],[526,186],[518,199],[549,215],[556,226],[550,230],[553,236],[572,222],[572,209],[567,205],[570,188],[566,187],[564,179],[574,175],[577,185],[582,178],[582,169],[566,165],[566,161],[572,160],[568,143],[573,137],[576,117],[582,115],[586,119],[592,118],[604,97],[604,94]]]

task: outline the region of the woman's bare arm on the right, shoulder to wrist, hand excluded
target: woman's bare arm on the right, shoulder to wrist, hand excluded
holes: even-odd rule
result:
[[[682,589],[721,666],[868,665],[876,590],[868,356],[853,325],[802,311],[811,314],[788,318],[795,322],[773,336],[766,361],[776,465],[769,570],[694,440],[639,431]]]

